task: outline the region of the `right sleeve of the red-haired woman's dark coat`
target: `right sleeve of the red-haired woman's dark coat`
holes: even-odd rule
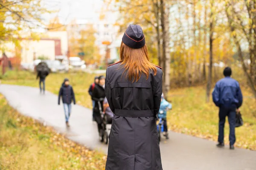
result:
[[[157,87],[156,90],[154,91],[154,114],[157,117],[159,109],[160,109],[160,104],[161,104],[161,95],[162,95],[162,77],[163,77],[163,72],[161,71],[160,78],[157,82]],[[158,119],[158,117],[157,117]]]

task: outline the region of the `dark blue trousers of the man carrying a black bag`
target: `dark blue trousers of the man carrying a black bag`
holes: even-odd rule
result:
[[[219,111],[219,135],[218,135],[218,142],[224,142],[224,126],[226,121],[226,116],[228,117],[228,122],[230,125],[230,135],[229,140],[230,144],[234,144],[236,142],[236,135],[235,135],[235,127],[236,127],[236,108],[224,108],[221,107]]]

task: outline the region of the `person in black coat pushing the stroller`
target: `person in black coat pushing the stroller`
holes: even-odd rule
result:
[[[92,100],[95,101],[95,106],[93,108],[93,114],[95,121],[98,124],[99,133],[101,133],[102,129],[102,117],[101,111],[103,112],[103,101],[105,98],[105,77],[99,76],[99,84],[95,85],[93,90]]]

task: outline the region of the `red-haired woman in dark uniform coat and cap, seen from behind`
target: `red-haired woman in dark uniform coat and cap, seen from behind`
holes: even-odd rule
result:
[[[130,25],[120,62],[106,71],[106,97],[114,113],[106,170],[163,170],[156,125],[162,75],[149,62],[142,28]]]

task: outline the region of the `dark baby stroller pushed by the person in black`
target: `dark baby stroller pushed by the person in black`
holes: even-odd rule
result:
[[[104,142],[105,144],[108,144],[108,138],[109,138],[109,133],[110,133],[110,130],[111,130],[111,122],[110,122],[110,118],[108,116],[107,113],[104,113],[102,111],[102,107],[100,105],[100,102],[98,102],[99,104],[99,111],[100,111],[100,114],[101,114],[101,117],[102,117],[102,129],[99,133],[99,140],[100,142]],[[112,120],[112,118],[111,118]]]

